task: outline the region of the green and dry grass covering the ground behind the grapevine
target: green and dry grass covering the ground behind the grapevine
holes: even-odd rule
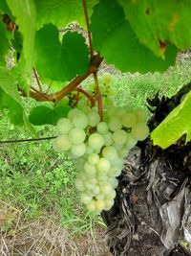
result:
[[[154,97],[158,91],[160,96],[172,96],[182,84],[190,81],[190,63],[190,56],[184,54],[175,67],[162,75],[121,75],[112,69],[113,85],[117,89],[116,104],[145,106],[146,98]],[[26,105],[32,108],[35,103],[30,101]],[[28,131],[10,126],[6,115],[5,112],[0,116],[1,140],[30,136]],[[55,128],[51,126],[36,130],[39,137],[56,134]],[[63,247],[63,255],[99,255],[97,253],[105,249],[98,234],[103,232],[103,223],[99,217],[88,214],[79,202],[74,188],[76,169],[69,157],[53,152],[51,141],[0,144],[0,151],[0,231],[4,240],[12,237],[14,244],[15,240],[19,244],[25,240],[24,237],[31,239],[31,242],[35,237],[37,246],[44,237],[43,243],[46,242],[49,244],[47,247],[51,246],[56,251],[63,245],[64,236],[67,243]],[[44,228],[47,233],[42,234],[40,228]],[[50,233],[54,234],[52,239]],[[57,244],[52,240],[57,241]],[[87,240],[91,242],[86,250],[82,249],[81,244],[86,244]],[[14,249],[13,244],[10,247]],[[16,249],[21,250],[17,245]],[[35,250],[32,253],[39,255]],[[61,255],[51,254],[50,248],[49,253],[41,252],[41,255]]]

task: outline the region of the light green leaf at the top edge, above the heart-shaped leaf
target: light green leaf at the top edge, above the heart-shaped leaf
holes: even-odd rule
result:
[[[89,15],[98,0],[86,1]],[[85,16],[80,0],[35,0],[37,12],[37,27],[46,23],[53,23],[56,27],[63,28],[71,22],[77,21],[85,27]]]

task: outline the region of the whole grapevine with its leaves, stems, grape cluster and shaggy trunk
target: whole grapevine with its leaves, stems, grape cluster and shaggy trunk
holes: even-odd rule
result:
[[[10,126],[32,141],[46,139],[36,128],[56,128],[51,151],[74,159],[80,201],[107,224],[113,255],[190,255],[191,85],[167,99],[156,91],[148,120],[144,108],[115,105],[100,69],[172,67],[191,46],[191,2],[1,0],[0,14],[0,109]]]

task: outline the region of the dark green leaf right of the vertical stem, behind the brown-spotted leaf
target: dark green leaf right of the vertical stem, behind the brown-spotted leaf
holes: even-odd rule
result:
[[[167,45],[165,59],[140,44],[117,0],[101,0],[91,17],[93,44],[107,62],[122,72],[164,71],[175,61],[177,48]]]

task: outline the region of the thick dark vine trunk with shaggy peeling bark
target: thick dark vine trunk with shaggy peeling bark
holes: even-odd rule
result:
[[[186,84],[171,99],[159,95],[148,99],[153,112],[151,130],[191,89]],[[148,138],[138,143],[125,160],[118,177],[117,198],[110,211],[103,211],[105,239],[115,256],[191,255],[180,245],[191,243],[191,143],[185,136],[166,150]]]

